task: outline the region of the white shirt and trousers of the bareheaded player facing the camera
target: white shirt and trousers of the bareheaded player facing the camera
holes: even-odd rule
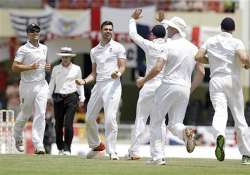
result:
[[[120,79],[112,79],[111,74],[118,70],[118,59],[126,59],[126,50],[118,42],[111,39],[102,46],[99,43],[90,51],[92,64],[96,64],[96,84],[91,91],[91,97],[87,106],[86,123],[90,148],[99,145],[97,116],[104,108],[105,136],[108,154],[115,153],[118,126],[116,114],[121,99]]]

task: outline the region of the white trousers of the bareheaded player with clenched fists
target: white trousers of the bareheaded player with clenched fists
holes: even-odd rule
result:
[[[116,116],[121,99],[121,91],[120,79],[96,82],[93,87],[86,114],[87,138],[90,148],[95,148],[100,144],[96,119],[103,107],[106,151],[108,154],[116,152],[115,146],[118,132]]]

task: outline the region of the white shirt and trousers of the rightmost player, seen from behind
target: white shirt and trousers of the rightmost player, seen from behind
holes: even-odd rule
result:
[[[215,109],[212,124],[214,136],[225,136],[228,105],[235,121],[240,153],[250,155],[250,137],[240,82],[241,65],[235,55],[236,50],[245,50],[244,44],[230,33],[222,32],[209,38],[202,48],[207,50],[211,71],[209,92]]]

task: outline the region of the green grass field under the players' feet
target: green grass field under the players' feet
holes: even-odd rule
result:
[[[167,165],[146,165],[146,159],[87,160],[79,156],[0,155],[1,175],[250,175],[250,165],[240,160],[168,158]]]

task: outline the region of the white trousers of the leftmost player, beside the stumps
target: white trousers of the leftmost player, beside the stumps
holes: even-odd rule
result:
[[[29,118],[33,117],[32,142],[34,147],[43,148],[43,137],[45,130],[45,112],[49,93],[46,80],[25,83],[20,81],[19,85],[21,112],[18,114],[14,137],[16,140],[23,139],[23,129]]]

